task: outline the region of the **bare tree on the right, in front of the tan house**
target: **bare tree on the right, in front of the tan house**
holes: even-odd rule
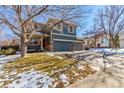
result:
[[[105,6],[99,10],[98,20],[100,28],[110,36],[110,47],[116,48],[119,32],[124,30],[124,6]]]

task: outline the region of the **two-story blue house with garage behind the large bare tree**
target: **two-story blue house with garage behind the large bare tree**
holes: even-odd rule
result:
[[[44,32],[44,26],[56,23],[58,19],[49,19],[42,24],[37,23],[35,29],[39,29],[28,45],[28,50],[47,50],[47,51],[78,51],[82,49],[82,41],[77,40],[77,24],[73,22],[63,22],[56,25],[53,30]]]

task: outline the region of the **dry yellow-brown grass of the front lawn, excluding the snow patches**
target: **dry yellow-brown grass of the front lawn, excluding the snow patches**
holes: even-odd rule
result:
[[[19,74],[31,69],[47,72],[50,77],[54,78],[58,82],[56,87],[64,87],[64,83],[59,78],[62,73],[69,78],[69,84],[72,84],[89,74],[95,73],[95,71],[93,71],[88,64],[83,65],[85,67],[84,70],[79,70],[77,68],[77,64],[78,62],[73,59],[59,59],[56,56],[48,56],[47,54],[38,53],[29,54],[25,58],[20,58],[14,62],[7,63],[4,66],[4,72],[10,74],[15,71]],[[5,76],[0,76],[0,78],[4,77]],[[14,80],[18,78],[14,78]],[[5,87],[5,85],[11,83],[12,81],[13,80],[6,80],[0,87]],[[55,82],[53,82],[53,84],[54,83]]]

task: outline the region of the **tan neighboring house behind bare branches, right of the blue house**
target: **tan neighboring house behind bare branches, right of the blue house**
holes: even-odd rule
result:
[[[81,39],[81,37],[80,37]],[[82,37],[84,48],[108,48],[110,47],[109,35],[100,32],[97,35]]]

